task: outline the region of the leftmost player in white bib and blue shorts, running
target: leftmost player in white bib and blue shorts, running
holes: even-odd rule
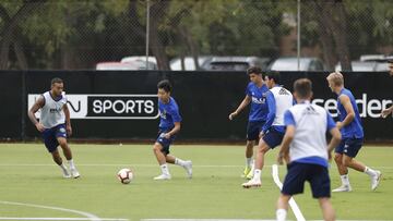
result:
[[[63,81],[58,77],[53,78],[50,90],[44,93],[29,109],[28,118],[43,134],[45,146],[52,155],[53,161],[60,167],[63,176],[78,179],[80,173],[75,168],[71,149],[67,143],[67,137],[72,134],[72,127],[63,88]],[[40,110],[39,122],[35,116],[38,110]],[[60,157],[59,145],[69,162],[70,171]]]

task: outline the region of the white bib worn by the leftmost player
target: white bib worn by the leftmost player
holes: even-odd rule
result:
[[[39,122],[45,128],[51,128],[59,124],[66,123],[63,106],[67,105],[66,91],[60,97],[53,98],[50,91],[43,95],[45,103],[40,109]]]

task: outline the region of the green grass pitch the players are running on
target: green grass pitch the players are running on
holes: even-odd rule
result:
[[[191,159],[194,177],[170,167],[171,181],[156,182],[159,168],[148,145],[71,145],[82,174],[64,180],[40,144],[0,144],[0,201],[15,201],[74,209],[100,218],[223,218],[274,219],[279,195],[271,167],[262,171],[262,187],[242,189],[242,146],[172,146],[171,152]],[[277,150],[267,154],[266,165]],[[350,171],[352,193],[332,195],[338,219],[389,220],[393,218],[393,148],[364,147],[358,160],[382,171],[377,192],[366,174]],[[116,179],[121,168],[131,168],[135,179],[122,185]],[[286,169],[279,168],[282,180]],[[332,187],[340,184],[331,169]],[[321,219],[318,201],[306,193],[295,197],[306,219]],[[66,211],[0,204],[0,217],[81,217]],[[294,219],[293,213],[289,218]]]

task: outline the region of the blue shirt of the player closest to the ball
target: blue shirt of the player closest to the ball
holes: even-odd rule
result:
[[[174,128],[175,122],[181,122],[179,107],[172,97],[170,97],[168,103],[164,103],[158,99],[158,109],[160,116],[159,130],[169,131]]]

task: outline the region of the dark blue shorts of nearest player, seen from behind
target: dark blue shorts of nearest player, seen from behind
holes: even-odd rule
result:
[[[287,169],[288,173],[285,176],[282,194],[289,196],[301,194],[305,183],[308,181],[313,198],[331,197],[327,168],[319,164],[291,162]]]

